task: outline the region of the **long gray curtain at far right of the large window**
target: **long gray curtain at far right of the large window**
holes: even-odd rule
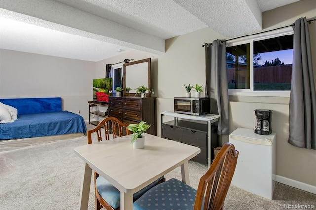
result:
[[[292,86],[289,106],[289,140],[294,146],[316,149],[316,94],[308,23],[295,21]]]

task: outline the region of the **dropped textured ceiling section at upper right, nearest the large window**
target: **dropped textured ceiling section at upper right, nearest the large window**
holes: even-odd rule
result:
[[[261,11],[256,0],[174,0],[224,37],[262,30]],[[204,12],[201,12],[203,8]]]

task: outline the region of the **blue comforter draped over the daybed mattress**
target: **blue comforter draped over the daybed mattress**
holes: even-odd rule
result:
[[[18,115],[13,123],[0,124],[0,140],[83,133],[82,116],[69,111]]]

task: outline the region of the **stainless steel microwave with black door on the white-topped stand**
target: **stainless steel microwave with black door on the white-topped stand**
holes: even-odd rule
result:
[[[209,98],[174,97],[174,112],[203,115],[209,113]]]

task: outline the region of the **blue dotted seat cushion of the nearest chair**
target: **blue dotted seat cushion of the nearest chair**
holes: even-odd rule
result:
[[[192,210],[197,190],[170,179],[148,190],[133,204],[134,210]]]

